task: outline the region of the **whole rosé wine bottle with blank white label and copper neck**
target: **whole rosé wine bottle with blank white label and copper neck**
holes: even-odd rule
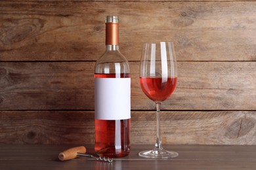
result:
[[[131,78],[119,52],[119,18],[105,22],[106,51],[95,63],[95,152],[117,158],[130,152]]]

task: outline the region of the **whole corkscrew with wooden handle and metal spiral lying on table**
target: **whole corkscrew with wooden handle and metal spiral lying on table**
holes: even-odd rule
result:
[[[106,162],[113,161],[113,158],[94,156],[92,154],[85,154],[85,152],[86,152],[85,146],[77,146],[74,148],[69,148],[68,150],[64,150],[63,152],[60,152],[60,154],[58,154],[58,159],[61,161],[66,161],[66,160],[77,158],[78,156],[85,156],[88,158],[93,158],[98,161],[106,161]]]

